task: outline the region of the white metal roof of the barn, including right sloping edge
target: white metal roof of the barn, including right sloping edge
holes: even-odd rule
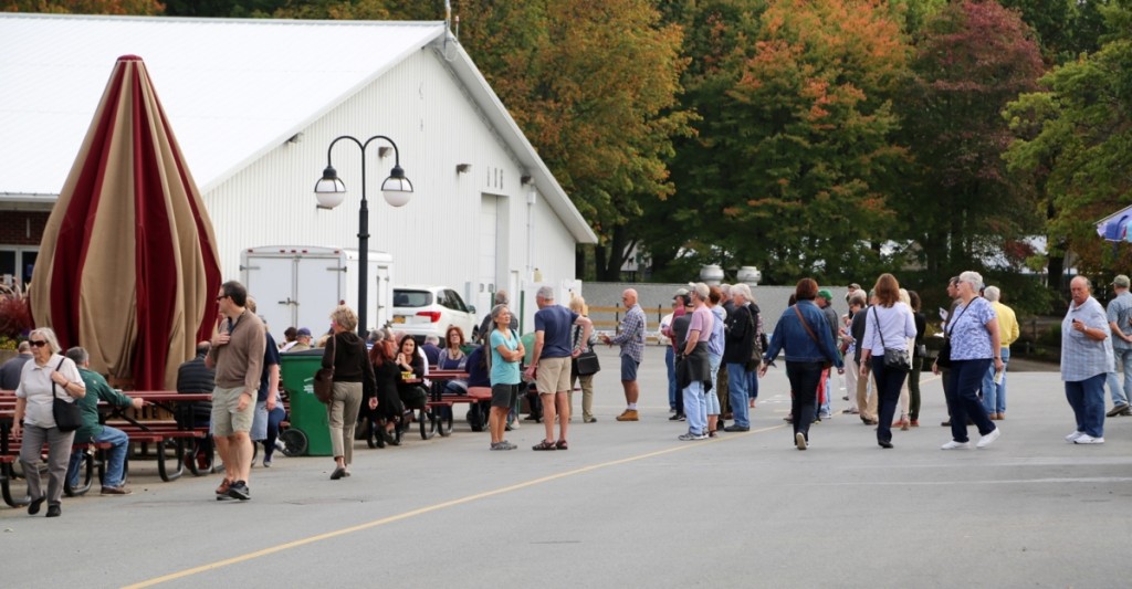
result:
[[[207,192],[446,35],[443,21],[0,12],[0,201],[8,208],[54,201],[121,55],[145,60]],[[471,58],[455,43],[445,53],[571,234],[597,243]]]

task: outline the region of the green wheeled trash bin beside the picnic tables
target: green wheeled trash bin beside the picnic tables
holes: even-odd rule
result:
[[[302,432],[307,441],[303,456],[333,453],[326,406],[315,397],[315,373],[320,367],[321,348],[280,354],[280,378],[291,400],[291,430]],[[284,440],[284,443],[290,442],[290,439]]]

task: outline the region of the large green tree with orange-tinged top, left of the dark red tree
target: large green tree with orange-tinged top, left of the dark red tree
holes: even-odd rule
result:
[[[652,244],[654,258],[678,246],[769,281],[855,276],[858,246],[892,222],[900,24],[855,0],[718,1],[693,18],[687,104],[703,121],[674,163],[670,227],[694,237]]]

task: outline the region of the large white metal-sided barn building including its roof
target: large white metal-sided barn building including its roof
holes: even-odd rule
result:
[[[397,284],[451,286],[482,314],[495,288],[569,288],[575,245],[597,241],[443,21],[0,14],[0,276],[34,265],[125,54],[149,70],[225,279],[248,248],[358,246],[361,151],[332,154],[345,202],[317,209],[312,191],[342,135],[392,138],[413,183],[409,205],[385,203],[393,153],[368,149],[369,248],[393,255]]]

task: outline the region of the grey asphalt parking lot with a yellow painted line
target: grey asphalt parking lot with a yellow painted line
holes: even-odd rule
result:
[[[568,451],[532,452],[542,426],[524,422],[507,434],[518,450],[491,452],[457,421],[451,438],[358,442],[342,480],[329,458],[280,456],[246,503],[214,500],[218,475],[162,483],[135,461],[132,495],[65,499],[58,519],[0,508],[0,584],[1129,586],[1132,418],[1108,419],[1103,445],[1066,443],[1056,372],[1007,375],[987,449],[940,450],[943,393],[925,374],[921,426],[893,450],[838,414],[799,452],[781,362],[751,432],[679,442],[662,348],[646,350],[636,423],[614,421],[616,348],[600,355],[599,422],[575,417]]]

